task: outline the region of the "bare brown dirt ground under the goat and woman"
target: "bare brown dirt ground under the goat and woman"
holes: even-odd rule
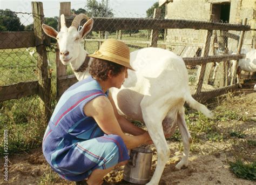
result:
[[[247,145],[247,140],[256,140],[256,92],[246,95],[238,95],[221,102],[225,108],[240,112],[247,119],[232,120],[228,122],[218,121],[216,127],[223,133],[232,129],[245,134],[244,138],[227,138],[220,141],[205,141],[193,143],[186,169],[176,170],[175,165],[181,159],[181,143],[167,141],[170,146],[171,156],[167,163],[159,184],[256,184],[254,181],[239,179],[229,169],[228,161],[235,157],[241,157],[247,161],[255,161],[256,148]],[[218,109],[212,108],[213,112]],[[151,174],[156,166],[156,149],[154,151]],[[29,153],[20,153],[9,156],[9,181],[4,182],[1,173],[2,184],[75,184],[59,179],[46,164],[41,148]],[[1,160],[0,165],[3,167]],[[3,170],[2,170],[3,172]],[[114,170],[105,177],[109,184],[130,184],[122,180],[122,167]],[[47,181],[46,181],[47,179]],[[52,180],[51,180],[52,179]],[[49,183],[49,182],[52,183]]]

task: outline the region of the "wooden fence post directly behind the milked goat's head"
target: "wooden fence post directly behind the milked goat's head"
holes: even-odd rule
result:
[[[60,15],[62,14],[64,14],[65,17],[71,16],[70,2],[60,2],[58,31],[60,30]],[[63,76],[66,76],[66,65],[63,65],[59,59],[59,45],[57,45],[57,50],[56,50],[57,98],[59,98],[61,95],[59,92],[59,87],[61,86],[59,77],[63,77]]]

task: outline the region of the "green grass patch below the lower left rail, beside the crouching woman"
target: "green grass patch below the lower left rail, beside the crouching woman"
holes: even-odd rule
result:
[[[20,151],[28,151],[41,145],[45,122],[39,109],[37,95],[25,97],[19,100],[9,100],[1,105],[0,132],[8,130],[9,154]],[[1,145],[0,152],[3,154]]]

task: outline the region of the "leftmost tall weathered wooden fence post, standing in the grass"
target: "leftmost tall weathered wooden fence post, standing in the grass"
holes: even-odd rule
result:
[[[36,39],[36,51],[38,53],[38,94],[41,98],[40,107],[43,109],[45,121],[48,122],[51,114],[51,78],[49,78],[47,52],[46,52],[46,35],[42,29],[44,20],[43,3],[31,2],[33,13],[33,29]]]

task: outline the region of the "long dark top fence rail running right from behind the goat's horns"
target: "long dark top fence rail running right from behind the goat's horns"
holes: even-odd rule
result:
[[[71,25],[73,16],[65,17],[66,24]],[[158,19],[158,18],[104,18],[92,17],[92,31],[116,30],[159,30],[159,29],[196,29],[196,30],[234,30],[250,31],[248,25],[213,23],[196,20]],[[83,20],[81,24],[84,24]]]

